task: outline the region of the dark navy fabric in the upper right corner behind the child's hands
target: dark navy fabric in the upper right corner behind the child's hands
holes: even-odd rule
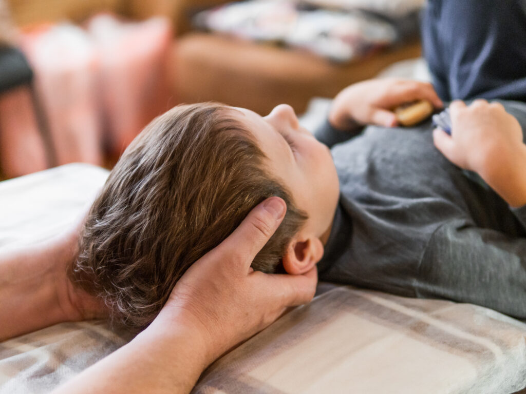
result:
[[[428,0],[422,44],[444,101],[526,101],[526,0]]]

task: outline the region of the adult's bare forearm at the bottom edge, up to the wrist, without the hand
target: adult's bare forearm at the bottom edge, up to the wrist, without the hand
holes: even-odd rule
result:
[[[211,361],[207,354],[195,330],[173,323],[150,326],[53,394],[188,393]]]

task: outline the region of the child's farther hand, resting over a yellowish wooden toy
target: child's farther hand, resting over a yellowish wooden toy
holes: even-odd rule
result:
[[[370,79],[343,89],[334,99],[329,122],[340,130],[356,125],[397,126],[392,109],[406,102],[428,99],[434,107],[443,103],[431,84],[408,79]]]

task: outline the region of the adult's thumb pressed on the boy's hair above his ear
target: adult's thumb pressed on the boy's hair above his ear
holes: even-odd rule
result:
[[[287,205],[279,197],[270,197],[252,209],[236,230],[214,250],[224,256],[216,261],[230,261],[248,272],[250,264],[278,229]],[[221,262],[220,262],[221,263]]]

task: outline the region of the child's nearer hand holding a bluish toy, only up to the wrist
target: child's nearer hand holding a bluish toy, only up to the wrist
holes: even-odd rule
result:
[[[468,107],[463,101],[450,105],[451,136],[435,129],[434,144],[459,167],[478,172],[483,178],[495,172],[523,149],[522,129],[517,119],[498,102],[475,100]]]

